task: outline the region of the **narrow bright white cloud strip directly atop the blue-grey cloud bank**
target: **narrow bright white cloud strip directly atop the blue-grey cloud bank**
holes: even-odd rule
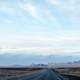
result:
[[[54,49],[51,47],[2,48],[0,54],[80,55],[80,50]]]

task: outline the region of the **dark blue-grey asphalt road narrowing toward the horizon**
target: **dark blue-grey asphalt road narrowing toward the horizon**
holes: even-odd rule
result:
[[[58,73],[54,72],[51,69],[45,69],[36,72],[35,74],[15,77],[8,80],[69,80],[69,79],[63,78],[61,75],[59,75]]]

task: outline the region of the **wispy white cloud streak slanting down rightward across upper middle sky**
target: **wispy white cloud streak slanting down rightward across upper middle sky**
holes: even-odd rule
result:
[[[31,2],[27,3],[19,2],[19,6],[22,10],[29,13],[32,17],[36,18],[41,24],[46,25],[47,23],[53,22],[54,23],[53,25],[56,28],[57,32],[59,33],[63,32],[63,26],[59,23],[57,18],[48,9],[48,6],[46,4],[44,4],[44,6],[42,5],[38,6],[37,4],[33,5]]]

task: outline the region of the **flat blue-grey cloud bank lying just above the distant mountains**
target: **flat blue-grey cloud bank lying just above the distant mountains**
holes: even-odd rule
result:
[[[73,62],[79,61],[80,56],[57,56],[57,55],[27,55],[27,54],[0,54],[1,65],[30,65],[30,64],[47,64],[54,62]]]

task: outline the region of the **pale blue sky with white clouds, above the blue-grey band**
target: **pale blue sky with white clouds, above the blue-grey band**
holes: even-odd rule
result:
[[[80,55],[80,0],[0,0],[0,54]]]

